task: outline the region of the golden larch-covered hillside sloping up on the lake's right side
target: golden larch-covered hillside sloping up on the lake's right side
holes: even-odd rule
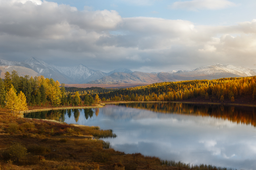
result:
[[[99,94],[99,97],[110,101],[178,101],[203,96],[206,99],[234,101],[237,97],[251,96],[255,100],[255,81],[256,76],[221,78],[217,80],[161,82],[119,89]]]

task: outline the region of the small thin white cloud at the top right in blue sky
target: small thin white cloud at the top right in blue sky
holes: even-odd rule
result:
[[[236,4],[228,0],[192,0],[192,1],[177,1],[171,5],[173,9],[188,9],[190,11],[197,11],[200,9],[225,9]]]

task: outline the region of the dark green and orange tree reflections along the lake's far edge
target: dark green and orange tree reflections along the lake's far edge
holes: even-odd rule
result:
[[[164,114],[182,114],[194,116],[211,116],[221,119],[229,119],[232,122],[251,124],[256,127],[256,109],[255,107],[246,106],[230,106],[230,105],[215,105],[215,104],[187,104],[187,103],[129,103],[116,104],[136,109],[146,109],[156,113]],[[83,109],[86,119],[98,116],[99,108]],[[94,110],[94,111],[93,111]],[[79,120],[82,109],[61,109],[41,112],[25,113],[24,116],[33,119],[49,119],[57,121],[65,121],[65,115],[70,118],[74,113],[75,121]]]

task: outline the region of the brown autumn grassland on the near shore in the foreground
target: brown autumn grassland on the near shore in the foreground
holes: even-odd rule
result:
[[[29,107],[35,109],[54,107]],[[140,153],[125,154],[109,148],[102,136],[114,134],[99,127],[26,119],[22,113],[13,115],[0,109],[0,170],[218,169],[210,165],[191,167]]]

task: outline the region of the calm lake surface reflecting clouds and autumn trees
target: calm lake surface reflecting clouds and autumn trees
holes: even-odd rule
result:
[[[176,103],[106,105],[29,113],[25,117],[112,129],[104,139],[125,153],[256,169],[256,108]]]

